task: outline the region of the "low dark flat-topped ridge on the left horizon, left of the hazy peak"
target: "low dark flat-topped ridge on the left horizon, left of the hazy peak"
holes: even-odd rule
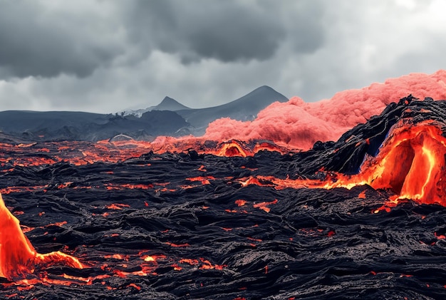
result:
[[[96,141],[120,134],[147,140],[157,135],[188,134],[189,127],[180,115],[168,110],[143,113],[141,118],[67,111],[0,112],[0,133],[33,141]]]

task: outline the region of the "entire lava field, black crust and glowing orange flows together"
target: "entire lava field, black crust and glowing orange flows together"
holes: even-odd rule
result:
[[[446,100],[417,97],[304,150],[5,140],[0,294],[444,299]]]

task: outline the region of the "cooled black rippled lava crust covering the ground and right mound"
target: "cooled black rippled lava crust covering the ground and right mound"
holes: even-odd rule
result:
[[[414,120],[445,124],[444,102],[415,102],[409,104]],[[6,164],[0,188],[22,189],[4,200],[21,224],[34,228],[26,233],[34,247],[63,250],[88,267],[49,267],[29,277],[69,286],[3,280],[0,294],[38,300],[442,299],[445,207],[407,201],[373,213],[394,191],[242,184],[261,175],[325,178],[327,171],[318,172],[324,165],[355,172],[366,153],[375,155],[392,122],[410,116],[405,108],[388,108],[337,143],[287,155],[190,151],[86,165],[9,170]],[[367,147],[353,148],[365,139]],[[92,281],[81,280],[88,277]]]

